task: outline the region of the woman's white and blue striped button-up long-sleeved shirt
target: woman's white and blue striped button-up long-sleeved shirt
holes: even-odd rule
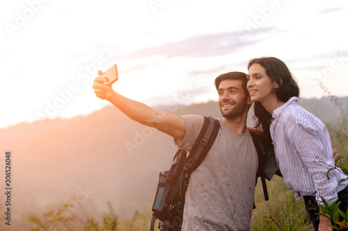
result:
[[[326,173],[335,165],[331,140],[326,126],[313,114],[296,103],[292,97],[274,110],[270,126],[271,137],[279,169],[285,185],[294,191],[296,199],[316,196],[322,204],[323,197],[329,204],[338,199],[338,192],[345,189],[348,180],[338,185],[345,174],[338,170]]]

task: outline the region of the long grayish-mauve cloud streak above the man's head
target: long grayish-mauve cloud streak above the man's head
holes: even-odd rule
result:
[[[258,28],[254,31],[232,31],[228,33],[216,33],[210,35],[197,35],[177,42],[170,42],[161,46],[151,46],[127,55],[118,57],[118,60],[137,60],[150,56],[163,58],[206,58],[211,56],[235,53],[245,46],[257,44],[264,40],[264,35],[279,31],[277,28]],[[243,37],[242,37],[243,36]],[[152,62],[156,65],[160,60]],[[149,64],[136,65],[124,72],[139,71]],[[242,65],[245,65],[243,63]]]

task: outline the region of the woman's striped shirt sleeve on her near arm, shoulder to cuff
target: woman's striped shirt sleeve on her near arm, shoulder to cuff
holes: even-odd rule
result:
[[[313,178],[317,191],[317,202],[323,204],[323,197],[331,205],[338,198],[338,182],[326,178],[327,171],[335,165],[335,162],[332,149],[330,149],[329,135],[325,140],[323,134],[320,134],[321,132],[324,131],[295,123],[292,129],[288,131],[288,137]],[[327,139],[329,139],[329,144]]]

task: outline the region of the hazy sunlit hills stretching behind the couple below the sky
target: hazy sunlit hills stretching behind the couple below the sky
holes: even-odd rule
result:
[[[348,97],[340,103],[347,109]],[[329,99],[303,99],[301,105],[325,122],[340,117]],[[156,108],[221,117],[216,102]],[[251,114],[248,126],[252,126]],[[0,140],[0,178],[5,178],[4,153],[11,151],[12,218],[14,225],[22,227],[28,225],[29,214],[42,214],[64,203],[72,206],[72,212],[84,209],[88,216],[106,211],[107,202],[121,217],[132,216],[135,210],[151,213],[159,171],[168,169],[177,149],[171,137],[128,119],[111,105],[86,117],[3,128]],[[5,201],[3,194],[0,200]],[[0,203],[0,212],[5,209]]]

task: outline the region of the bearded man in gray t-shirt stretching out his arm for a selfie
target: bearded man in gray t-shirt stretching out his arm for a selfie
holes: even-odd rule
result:
[[[157,128],[174,138],[175,145],[190,151],[203,126],[203,117],[177,117],[132,101],[104,85],[97,77],[93,88],[130,119]],[[223,119],[205,160],[191,173],[184,204],[184,230],[250,230],[255,193],[258,154],[246,129],[251,101],[246,89],[246,74],[229,72],[215,80]],[[268,180],[278,166],[267,157],[264,171]]]

